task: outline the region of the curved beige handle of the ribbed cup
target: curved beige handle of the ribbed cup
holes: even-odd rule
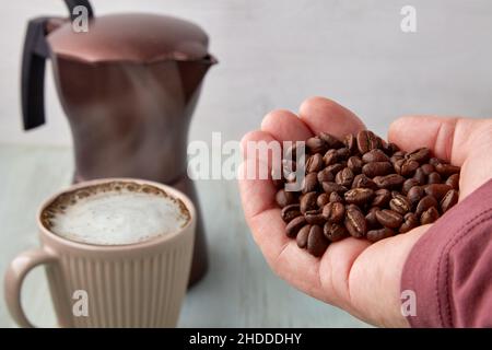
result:
[[[10,314],[19,326],[34,328],[21,303],[24,278],[33,268],[44,264],[52,264],[56,259],[56,256],[46,248],[38,248],[21,253],[10,264],[5,273],[5,302]]]

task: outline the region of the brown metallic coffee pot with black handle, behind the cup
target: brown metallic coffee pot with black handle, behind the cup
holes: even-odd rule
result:
[[[89,31],[69,19],[28,22],[22,61],[24,129],[45,122],[45,60],[50,59],[75,158],[74,182],[102,177],[156,180],[187,194],[198,206],[186,173],[187,135],[203,77],[215,59],[197,25],[156,14],[94,16]],[[199,211],[199,210],[198,210]],[[207,271],[199,215],[190,284]]]

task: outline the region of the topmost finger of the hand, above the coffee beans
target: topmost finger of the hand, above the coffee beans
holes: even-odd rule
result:
[[[313,133],[325,131],[341,138],[365,129],[361,119],[351,110],[324,97],[311,97],[304,101],[300,108],[300,116]]]

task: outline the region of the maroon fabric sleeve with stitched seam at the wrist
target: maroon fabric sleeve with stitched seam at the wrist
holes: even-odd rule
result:
[[[403,268],[408,290],[412,327],[492,327],[492,179],[419,240]]]

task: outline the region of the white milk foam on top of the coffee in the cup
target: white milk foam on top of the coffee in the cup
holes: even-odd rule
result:
[[[176,232],[189,220],[179,201],[127,189],[91,192],[51,211],[49,229],[68,240],[98,245],[132,244]]]

